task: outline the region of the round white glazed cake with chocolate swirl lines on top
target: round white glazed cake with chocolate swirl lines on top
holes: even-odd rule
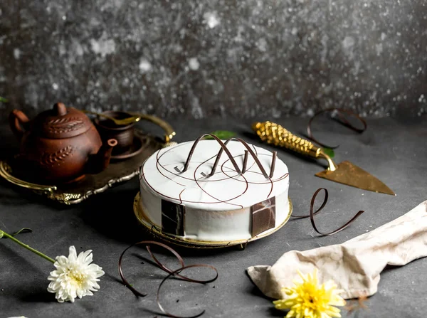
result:
[[[227,142],[220,157],[217,140],[192,147],[184,142],[160,149],[139,171],[142,211],[162,233],[245,240],[288,220],[288,167],[275,153],[241,139]]]

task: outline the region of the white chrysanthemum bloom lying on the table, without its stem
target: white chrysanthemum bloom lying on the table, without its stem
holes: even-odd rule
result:
[[[74,246],[70,246],[70,255],[57,256],[53,264],[56,270],[51,272],[48,292],[56,293],[58,302],[74,302],[76,297],[92,296],[100,289],[98,277],[105,274],[102,267],[92,263],[92,250],[77,256]]]

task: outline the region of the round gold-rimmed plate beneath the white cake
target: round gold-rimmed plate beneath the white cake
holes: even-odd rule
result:
[[[285,218],[285,221],[283,221],[279,226],[276,226],[275,228],[272,228],[270,230],[266,230],[263,233],[254,236],[253,238],[230,241],[193,240],[190,238],[182,238],[180,236],[172,235],[169,233],[162,233],[162,228],[159,228],[158,226],[155,226],[154,224],[150,223],[149,218],[144,213],[141,204],[139,204],[140,199],[141,197],[138,193],[134,199],[134,213],[137,217],[137,220],[139,221],[139,223],[142,224],[144,229],[154,235],[154,237],[156,238],[184,248],[227,248],[230,246],[237,246],[241,250],[244,250],[249,242],[252,242],[253,240],[259,240],[260,238],[265,238],[266,236],[280,230],[280,228],[282,228],[289,221],[289,218],[292,214],[292,201],[290,201],[289,198],[289,213],[288,216]]]

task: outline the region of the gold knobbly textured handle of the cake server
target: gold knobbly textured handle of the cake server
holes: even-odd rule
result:
[[[323,152],[322,148],[315,146],[306,139],[292,134],[292,132],[280,126],[280,124],[275,124],[274,122],[255,122],[255,124],[252,125],[252,129],[258,134],[261,140],[268,144],[285,147],[312,158],[324,158],[328,161],[329,170],[334,171],[337,169],[337,165],[334,164],[334,161],[332,161],[325,152]]]

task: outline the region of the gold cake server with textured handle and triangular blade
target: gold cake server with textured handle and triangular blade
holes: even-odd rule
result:
[[[359,189],[379,192],[381,194],[394,194],[391,189],[376,177],[364,171],[359,166],[352,164],[349,161],[342,161],[340,164],[335,164],[332,159],[325,154],[322,148],[316,147],[312,142],[295,136],[280,124],[273,122],[255,122],[252,129],[258,134],[261,140],[274,144],[275,146],[285,147],[300,154],[305,154],[308,157],[315,159],[326,159],[329,165],[325,171],[320,171],[316,176],[330,181],[347,184]]]

